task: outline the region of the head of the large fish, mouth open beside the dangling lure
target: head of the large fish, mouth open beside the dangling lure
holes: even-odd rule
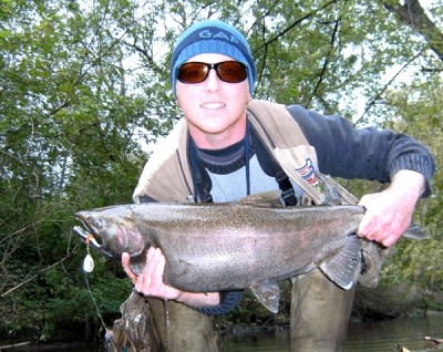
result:
[[[75,218],[83,222],[89,236],[93,237],[92,246],[107,256],[121,257],[123,252],[137,256],[148,247],[131,211],[124,206],[79,211]]]

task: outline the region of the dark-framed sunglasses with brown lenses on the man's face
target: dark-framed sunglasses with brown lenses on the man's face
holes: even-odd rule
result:
[[[182,83],[202,83],[214,69],[217,76],[227,83],[240,83],[248,76],[245,64],[238,61],[223,61],[218,63],[185,62],[177,69],[177,80]]]

